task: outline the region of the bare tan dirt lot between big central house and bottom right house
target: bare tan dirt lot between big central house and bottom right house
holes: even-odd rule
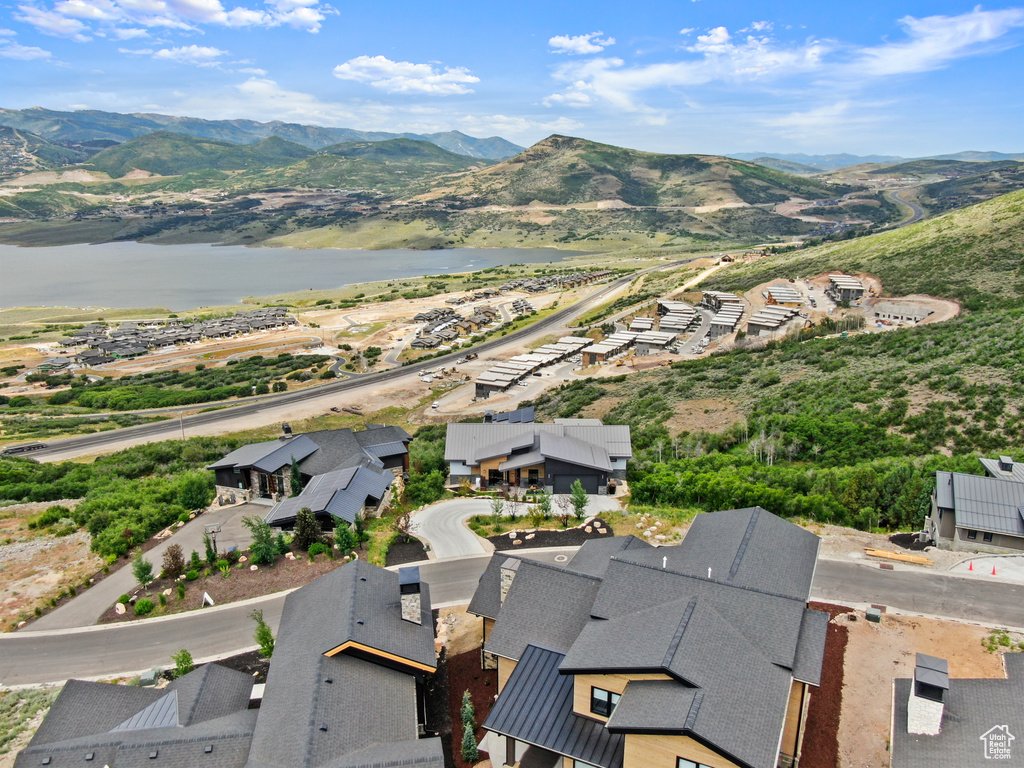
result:
[[[951,678],[1006,677],[1001,656],[982,647],[988,631],[981,627],[892,614],[871,624],[859,611],[834,621],[849,632],[839,768],[889,765],[892,680],[912,677],[916,652],[948,659]]]

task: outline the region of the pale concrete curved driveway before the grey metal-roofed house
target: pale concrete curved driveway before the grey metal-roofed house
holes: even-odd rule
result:
[[[552,498],[554,504],[557,497]],[[591,496],[587,516],[622,509],[618,500],[610,496]],[[554,505],[557,509],[557,505]],[[416,512],[412,519],[414,535],[430,545],[433,558],[466,557],[490,552],[493,547],[466,525],[473,515],[490,515],[489,499],[453,499],[439,502]]]

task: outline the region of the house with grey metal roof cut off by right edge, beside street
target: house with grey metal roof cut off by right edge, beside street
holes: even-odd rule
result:
[[[1024,472],[1009,457],[982,464],[995,476],[935,473],[925,536],[940,549],[1024,551]]]

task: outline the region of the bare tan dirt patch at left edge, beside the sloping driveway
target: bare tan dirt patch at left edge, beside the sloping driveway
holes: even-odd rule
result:
[[[0,627],[13,629],[18,614],[31,612],[71,586],[81,586],[103,566],[89,551],[89,535],[56,537],[30,530],[28,518],[54,505],[75,502],[16,504],[0,508]]]

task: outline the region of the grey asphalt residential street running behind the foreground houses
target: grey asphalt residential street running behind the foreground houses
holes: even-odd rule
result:
[[[564,557],[564,551],[536,551],[528,555],[554,561]],[[421,564],[420,572],[430,584],[433,604],[468,602],[488,557]],[[828,602],[879,603],[904,612],[1024,628],[1024,585],[819,560],[811,595]],[[200,659],[250,650],[255,644],[249,612],[261,608],[276,628],[283,604],[284,595],[278,594],[131,624],[0,635],[0,684],[31,685],[74,677],[133,674],[169,666],[171,653],[178,648],[188,648]]]

